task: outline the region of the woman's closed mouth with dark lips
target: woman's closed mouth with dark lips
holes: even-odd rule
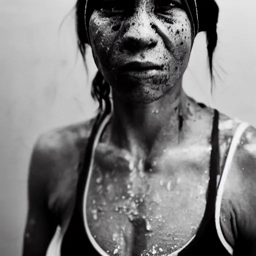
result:
[[[150,61],[131,61],[120,67],[120,71],[136,78],[150,78],[162,70],[162,65]]]

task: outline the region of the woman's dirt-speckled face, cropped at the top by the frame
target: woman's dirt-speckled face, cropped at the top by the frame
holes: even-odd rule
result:
[[[181,0],[101,0],[89,22],[95,63],[121,97],[149,103],[187,67],[192,29]]]

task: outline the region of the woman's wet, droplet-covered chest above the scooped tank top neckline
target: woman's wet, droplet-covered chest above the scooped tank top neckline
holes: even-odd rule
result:
[[[184,246],[204,214],[209,155],[202,147],[166,151],[149,166],[95,161],[84,200],[93,239],[116,255],[162,255]]]

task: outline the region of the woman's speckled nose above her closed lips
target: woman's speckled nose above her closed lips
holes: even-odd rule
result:
[[[143,15],[144,16],[144,15]],[[126,24],[122,38],[122,50],[135,53],[153,48],[158,41],[154,25],[148,17],[137,15]]]

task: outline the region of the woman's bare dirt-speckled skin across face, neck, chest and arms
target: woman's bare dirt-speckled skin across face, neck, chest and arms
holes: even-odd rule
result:
[[[92,52],[112,87],[113,114],[95,149],[86,213],[93,237],[110,254],[155,254],[157,247],[168,255],[194,235],[204,213],[213,110],[182,91],[193,38],[187,14],[179,1],[173,3],[156,8],[153,0],[135,0],[124,12],[118,4],[114,10],[103,5],[91,15]],[[130,61],[161,68],[123,72]],[[50,131],[37,141],[24,256],[45,255],[57,225],[65,232],[92,122]],[[220,116],[221,167],[236,126]],[[255,253],[255,141],[250,127],[235,153],[221,205],[224,236],[234,247],[246,242],[248,253],[242,255]]]

